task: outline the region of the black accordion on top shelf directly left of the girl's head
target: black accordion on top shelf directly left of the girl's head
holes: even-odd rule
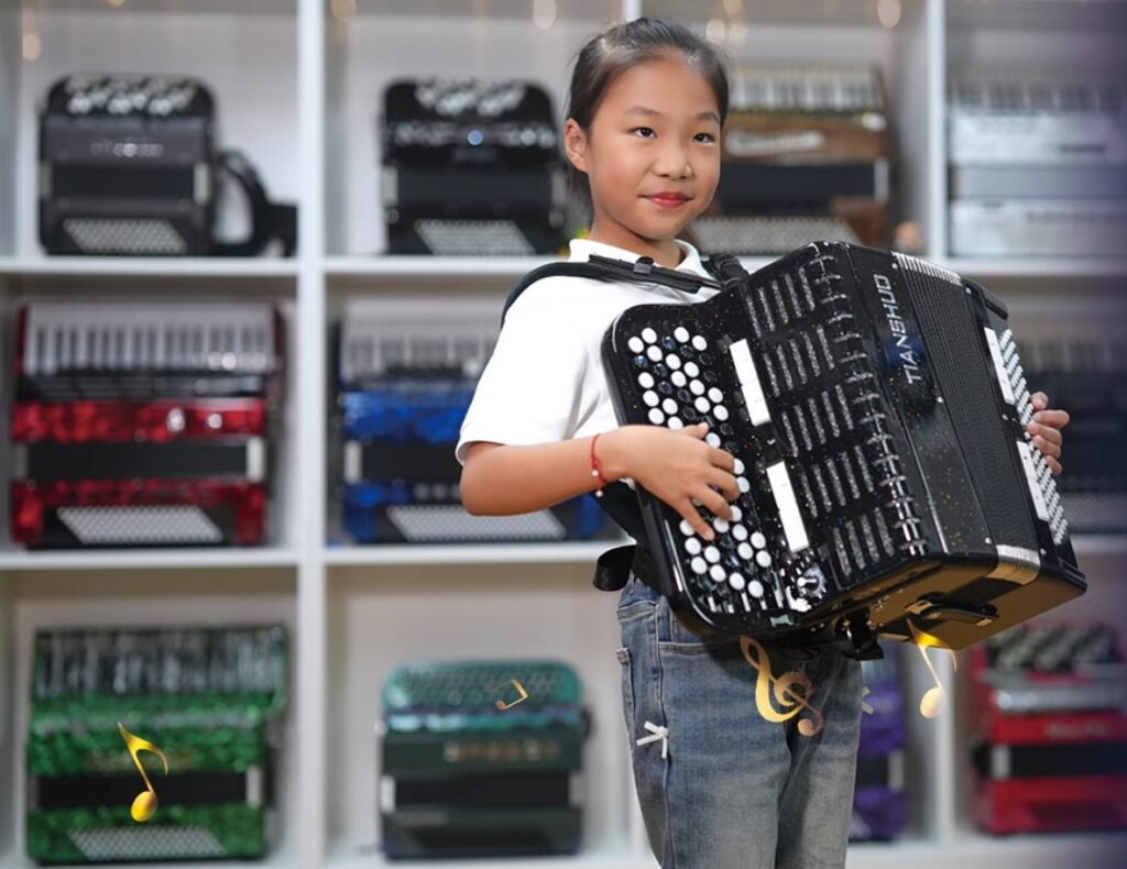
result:
[[[388,252],[553,254],[565,243],[548,92],[516,80],[397,81],[381,128]]]

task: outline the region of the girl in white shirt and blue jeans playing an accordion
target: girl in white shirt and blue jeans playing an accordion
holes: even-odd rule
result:
[[[592,254],[707,274],[677,234],[712,198],[728,82],[716,52],[687,28],[638,19],[587,43],[576,59],[565,144],[586,176]],[[636,304],[690,304],[658,285],[553,276],[509,309],[496,351],[462,426],[461,494],[476,515],[543,509],[607,482],[633,480],[704,537],[694,500],[730,518],[738,496],[734,458],[704,441],[704,424],[673,431],[619,426],[600,344],[616,314]],[[1036,443],[1059,472],[1064,411],[1035,399]],[[595,440],[597,436],[597,441]],[[861,713],[861,672],[840,650],[805,655],[763,644],[771,671],[797,670],[824,726],[762,718],[757,672],[739,638],[683,623],[631,571],[618,604],[622,702],[635,783],[649,844],[665,869],[819,869],[845,861]]]

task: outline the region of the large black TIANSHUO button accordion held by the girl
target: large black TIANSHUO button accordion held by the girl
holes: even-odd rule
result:
[[[811,243],[603,342],[623,425],[709,425],[733,520],[639,487],[662,591],[721,631],[966,647],[1081,594],[1005,305],[922,259]]]

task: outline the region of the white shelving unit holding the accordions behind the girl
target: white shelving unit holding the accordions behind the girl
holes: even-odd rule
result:
[[[543,259],[379,256],[375,123],[382,88],[427,73],[524,76],[561,112],[567,63],[612,20],[668,15],[703,25],[738,3],[561,0],[548,28],[527,0],[0,0],[0,360],[11,358],[11,312],[27,295],[114,292],[136,298],[276,299],[290,328],[282,491],[260,549],[26,552],[8,537],[0,497],[0,866],[23,850],[23,739],[29,641],[46,624],[279,620],[292,635],[293,693],[281,789],[282,843],[272,867],[383,866],[375,817],[382,680],[417,657],[545,656],[570,662],[594,713],[579,857],[429,867],[645,869],[655,866],[635,807],[619,699],[610,595],[589,583],[600,544],[354,547],[330,544],[330,326],[353,295],[411,298],[420,308],[473,294],[499,304]],[[880,63],[894,108],[903,219],[920,223],[929,258],[978,278],[1015,316],[1046,307],[1111,304],[1127,266],[1113,260],[960,260],[948,256],[944,92],[952,64],[992,56],[1039,63],[1071,52],[1118,62],[1125,2],[902,0],[894,27],[873,2],[744,0],[729,23],[735,57]],[[26,46],[35,54],[24,60]],[[1001,46],[995,54],[995,46]],[[1091,48],[1091,46],[1095,46]],[[47,258],[36,241],[35,107],[70,71],[183,72],[219,101],[223,144],[243,149],[272,196],[298,202],[292,259]],[[237,228],[236,228],[237,229]],[[762,260],[749,261],[754,267]],[[1063,305],[1063,307],[1062,307]],[[10,378],[0,365],[0,418]],[[0,489],[9,452],[0,437]],[[1076,541],[1091,588],[1054,618],[1121,611],[1127,539]],[[436,628],[437,626],[437,628]],[[912,649],[911,694],[930,686]],[[948,684],[955,674],[940,662]],[[909,697],[911,700],[911,697]],[[850,850],[851,869],[994,869],[1095,864],[1120,852],[1108,835],[994,839],[968,821],[965,698],[938,720],[912,716],[908,834]],[[11,782],[11,784],[8,784]]]

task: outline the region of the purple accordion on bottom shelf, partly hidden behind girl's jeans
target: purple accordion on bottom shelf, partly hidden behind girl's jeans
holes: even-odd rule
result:
[[[863,660],[864,702],[871,713],[861,716],[861,743],[857,756],[857,790],[850,840],[895,839],[904,830],[907,799],[904,793],[904,701],[900,694],[898,655],[885,649],[879,660]]]

